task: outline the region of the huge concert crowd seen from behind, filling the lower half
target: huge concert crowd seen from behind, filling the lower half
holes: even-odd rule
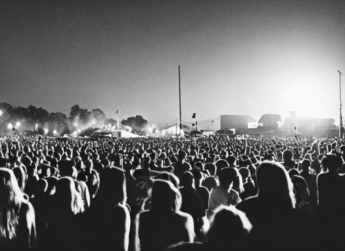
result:
[[[0,138],[0,250],[341,250],[345,142]]]

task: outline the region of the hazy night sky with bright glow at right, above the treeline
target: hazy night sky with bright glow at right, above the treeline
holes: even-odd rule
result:
[[[184,121],[339,121],[345,1],[0,1],[0,102],[165,125],[179,116],[178,65]]]

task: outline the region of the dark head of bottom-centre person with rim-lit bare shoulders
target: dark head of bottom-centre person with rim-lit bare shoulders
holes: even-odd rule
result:
[[[181,208],[182,197],[170,181],[156,179],[153,182],[151,207],[157,212],[173,211]]]

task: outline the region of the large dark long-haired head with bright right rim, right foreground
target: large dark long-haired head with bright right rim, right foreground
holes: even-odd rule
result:
[[[259,199],[280,205],[284,209],[295,208],[293,183],[283,165],[263,161],[256,169],[256,182]]]

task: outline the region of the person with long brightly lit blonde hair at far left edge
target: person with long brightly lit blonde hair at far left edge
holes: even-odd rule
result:
[[[0,250],[29,250],[35,244],[34,208],[13,171],[0,168]]]

